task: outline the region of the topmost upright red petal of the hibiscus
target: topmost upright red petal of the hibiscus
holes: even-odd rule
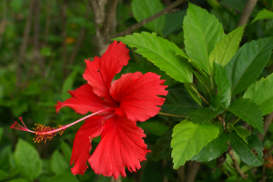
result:
[[[93,87],[97,96],[104,97],[108,102],[113,102],[109,96],[111,82],[122,67],[128,64],[129,59],[129,50],[126,45],[122,42],[117,44],[114,41],[101,58],[94,57],[94,61],[86,60],[86,71],[83,76]]]

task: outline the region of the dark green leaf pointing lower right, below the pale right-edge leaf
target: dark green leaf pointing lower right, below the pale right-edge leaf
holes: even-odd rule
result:
[[[239,98],[233,101],[227,109],[264,134],[263,113],[256,103],[248,98]]]

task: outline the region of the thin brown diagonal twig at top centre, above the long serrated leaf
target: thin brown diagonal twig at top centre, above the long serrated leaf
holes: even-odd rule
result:
[[[122,32],[119,32],[119,33],[117,33],[115,35],[111,35],[110,37],[108,37],[108,39],[116,38],[118,36],[128,35],[132,31],[136,30],[137,28],[140,28],[141,26],[146,25],[147,23],[153,21],[154,19],[156,19],[160,15],[167,14],[167,12],[169,12],[171,9],[173,9],[177,5],[182,4],[183,2],[186,2],[186,0],[177,0],[176,2],[172,3],[171,5],[167,5],[166,8],[164,8],[162,11],[158,12],[156,15],[152,15],[152,16],[146,18],[146,19],[143,19],[140,22],[138,22],[137,24],[128,27],[126,30],[124,30]]]

